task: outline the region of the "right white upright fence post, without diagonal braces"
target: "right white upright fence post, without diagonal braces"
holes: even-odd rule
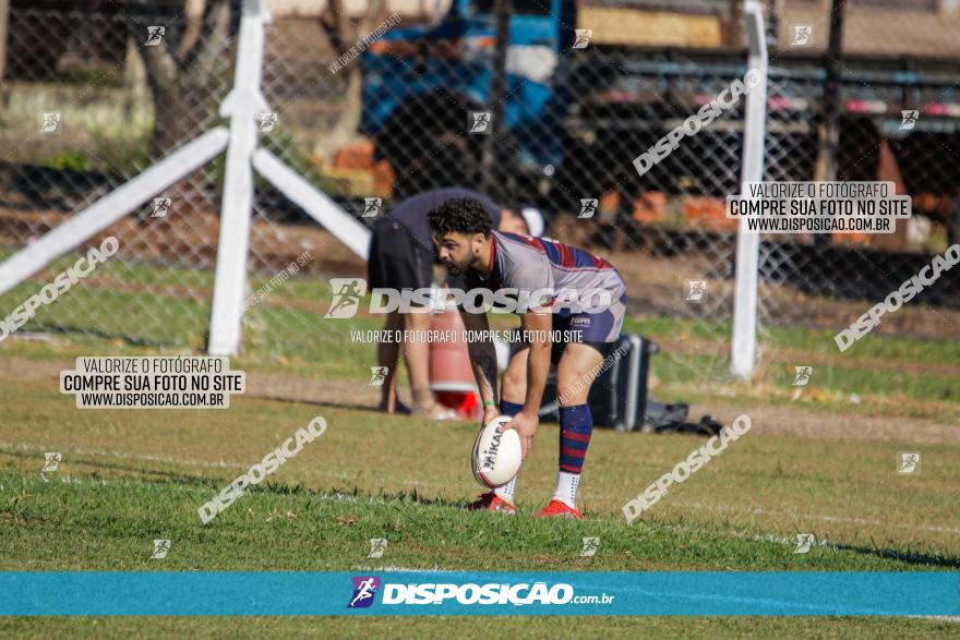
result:
[[[746,34],[749,41],[747,65],[763,74],[763,82],[747,94],[743,135],[743,166],[740,192],[746,195],[745,182],[764,180],[765,137],[767,133],[767,40],[764,8],[756,0],[744,2]],[[749,379],[757,352],[757,281],[760,237],[746,230],[740,220],[736,234],[736,286],[733,301],[733,336],[730,347],[730,370],[733,375]]]

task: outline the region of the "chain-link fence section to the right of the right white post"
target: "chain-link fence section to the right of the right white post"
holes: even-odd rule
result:
[[[912,200],[913,218],[893,234],[764,239],[763,317],[842,327],[960,242],[960,5],[809,0],[772,9],[767,179],[888,181]],[[787,121],[794,135],[778,134]],[[949,336],[958,305],[960,277],[947,271],[881,330]]]

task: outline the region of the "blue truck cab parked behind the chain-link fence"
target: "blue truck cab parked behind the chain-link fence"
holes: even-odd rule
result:
[[[559,123],[565,112],[573,44],[572,0],[514,0],[506,49],[499,146],[489,178],[535,180],[561,161]],[[395,196],[440,183],[480,186],[484,135],[468,131],[470,111],[490,109],[495,24],[492,0],[455,0],[434,25],[395,28],[363,57],[361,131],[398,178]],[[548,173],[550,169],[548,169]]]

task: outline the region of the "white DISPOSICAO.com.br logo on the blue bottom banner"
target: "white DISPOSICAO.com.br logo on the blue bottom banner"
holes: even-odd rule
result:
[[[353,594],[349,608],[369,607],[381,587],[380,578],[355,576]],[[465,604],[465,605],[508,605],[525,606],[533,604],[611,604],[615,595],[607,593],[577,595],[574,588],[565,582],[548,585],[547,582],[509,583],[466,583],[424,582],[422,584],[382,584],[383,605],[418,604]]]

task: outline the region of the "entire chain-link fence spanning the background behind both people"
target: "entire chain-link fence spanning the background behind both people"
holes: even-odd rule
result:
[[[747,71],[737,8],[682,4],[514,0],[523,28],[503,49],[492,2],[454,2],[432,21],[383,2],[356,15],[322,3],[295,17],[277,2],[261,144],[358,217],[363,198],[381,198],[385,215],[407,195],[447,184],[538,206],[547,236],[601,253],[623,273],[633,313],[694,327],[722,367],[735,258],[724,198],[739,188],[743,106],[722,110],[643,176],[634,166]],[[770,7],[767,179],[891,180],[920,215],[889,238],[764,237],[765,326],[845,326],[958,239],[960,52],[956,43],[924,44],[929,15],[915,4],[911,21],[890,17],[905,16],[903,8],[848,7],[836,124],[824,56],[829,7]],[[953,24],[945,3],[933,4],[936,28]],[[651,28],[651,12],[671,28]],[[238,4],[209,0],[94,10],[12,3],[0,113],[4,256],[221,122],[239,15]],[[794,41],[797,25],[812,27],[805,44]],[[941,59],[920,58],[933,52]],[[902,126],[903,110],[919,112],[912,128]],[[99,233],[88,244],[115,236],[119,254],[39,309],[26,329],[202,348],[223,174],[221,156]],[[86,249],[0,297],[2,307],[39,291]],[[336,327],[321,321],[325,278],[365,273],[328,230],[257,179],[251,291],[303,252],[312,258],[297,277],[248,309],[244,346],[293,353],[316,340],[334,345]],[[885,324],[955,331],[955,276]]]

